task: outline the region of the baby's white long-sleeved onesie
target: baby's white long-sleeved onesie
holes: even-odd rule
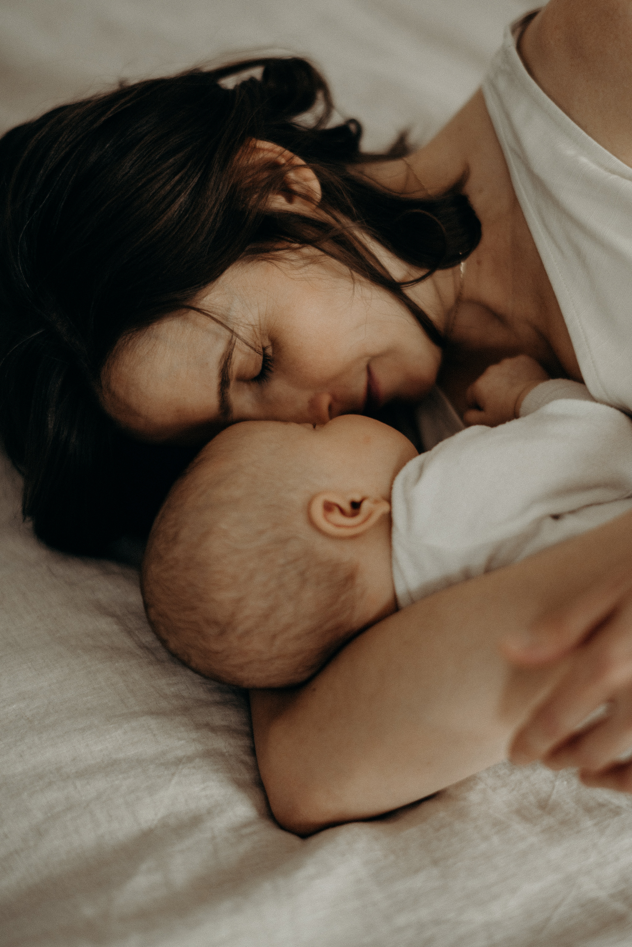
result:
[[[520,418],[470,427],[395,477],[400,608],[632,509],[632,420],[577,382],[538,384]]]

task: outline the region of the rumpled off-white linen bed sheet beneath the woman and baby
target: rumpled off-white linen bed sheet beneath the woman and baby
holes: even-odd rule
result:
[[[528,4],[20,0],[0,122],[256,46],[314,58],[367,144],[427,138]],[[272,820],[242,693],[158,645],[137,575],[39,544],[0,457],[2,947],[632,942],[632,801],[501,764],[301,840]]]

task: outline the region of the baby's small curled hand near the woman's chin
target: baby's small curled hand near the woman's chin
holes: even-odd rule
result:
[[[536,384],[549,381],[544,368],[529,355],[505,358],[490,365],[466,392],[469,410],[465,424],[487,424],[496,427],[518,418],[520,405]]]

